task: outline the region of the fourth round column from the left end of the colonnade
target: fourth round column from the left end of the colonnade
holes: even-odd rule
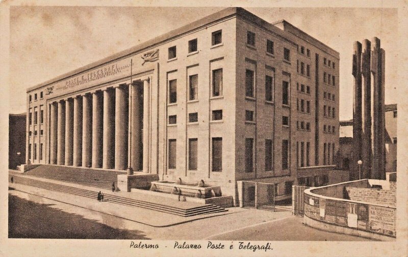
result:
[[[73,166],[82,165],[82,98],[73,99]]]

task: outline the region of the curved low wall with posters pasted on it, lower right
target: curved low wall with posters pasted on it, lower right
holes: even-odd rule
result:
[[[375,240],[395,240],[395,206],[344,199],[346,187],[370,188],[370,183],[363,179],[305,190],[305,224]]]

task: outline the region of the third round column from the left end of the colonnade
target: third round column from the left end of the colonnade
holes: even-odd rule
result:
[[[65,165],[73,160],[73,101],[65,100]]]

